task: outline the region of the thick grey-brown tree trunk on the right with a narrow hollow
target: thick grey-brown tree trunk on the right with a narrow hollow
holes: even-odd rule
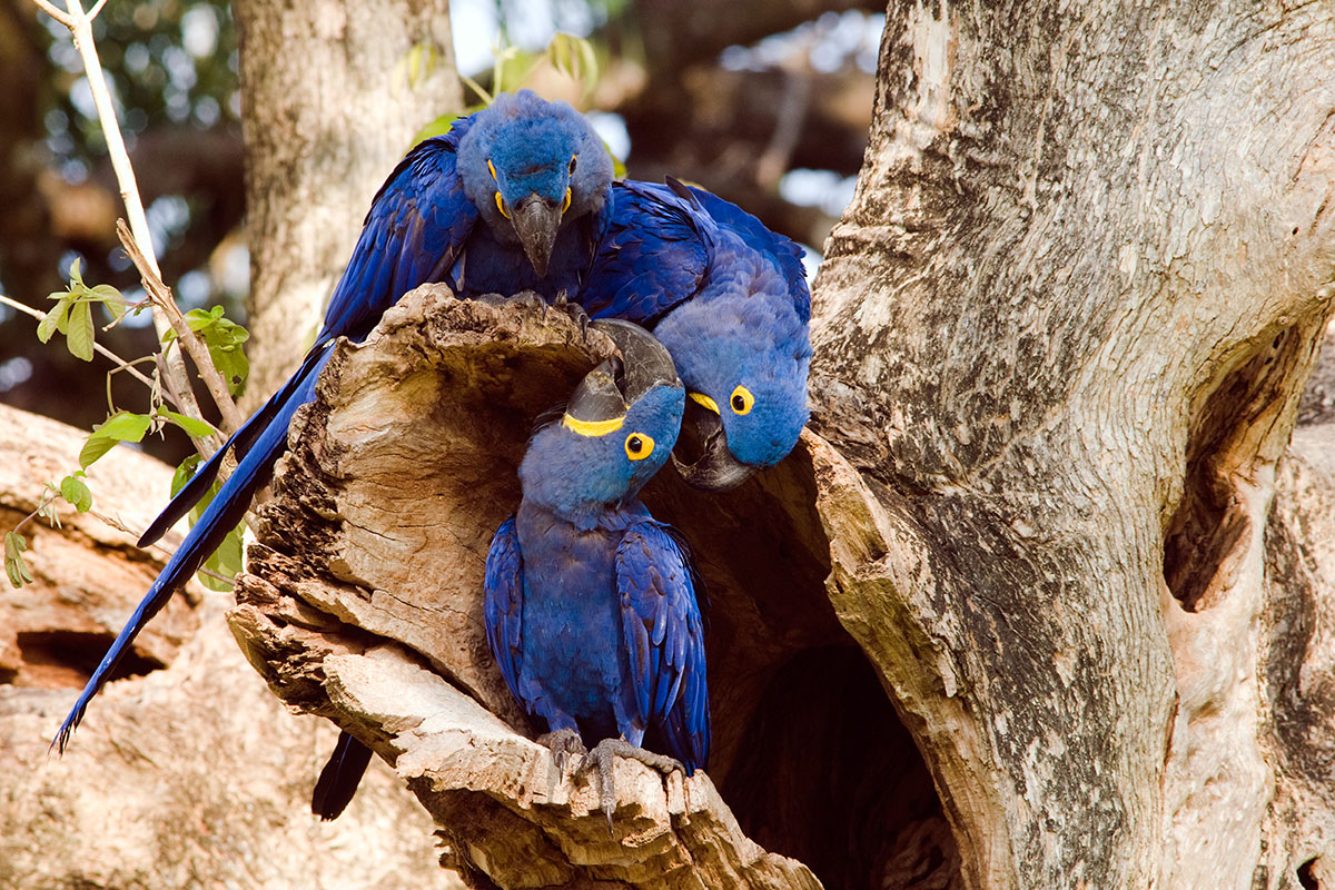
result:
[[[1263,530],[1331,312],[1332,65],[1328,8],[890,9],[813,426],[877,530],[832,522],[836,610],[967,886],[1292,886],[1319,841],[1276,825],[1332,787],[1270,766],[1298,664],[1259,634],[1298,595]]]

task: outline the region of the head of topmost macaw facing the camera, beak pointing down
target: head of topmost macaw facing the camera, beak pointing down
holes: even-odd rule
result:
[[[611,185],[611,157],[589,120],[529,89],[501,93],[459,140],[463,191],[506,243],[518,242],[547,274],[562,226],[597,211]]]

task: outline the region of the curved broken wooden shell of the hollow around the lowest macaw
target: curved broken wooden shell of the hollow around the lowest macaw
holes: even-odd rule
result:
[[[232,630],[279,698],[395,765],[477,883],[818,887],[704,773],[618,762],[609,834],[597,778],[555,774],[487,648],[483,566],[534,418],[611,352],[561,312],[405,296],[298,412]]]

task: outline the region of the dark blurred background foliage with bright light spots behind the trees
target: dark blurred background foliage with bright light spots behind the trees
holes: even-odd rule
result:
[[[523,85],[590,113],[630,176],[697,181],[814,251],[861,164],[882,9],[866,0],[455,0],[451,24],[461,73],[483,88],[498,48],[510,47],[502,85],[531,69]],[[164,280],[184,308],[220,304],[244,323],[243,96],[228,4],[109,0],[95,28]],[[593,79],[541,61],[558,32],[589,40]],[[406,59],[405,75],[423,64],[433,60]],[[0,0],[0,292],[49,308],[47,295],[80,260],[89,284],[136,299],[79,55],[29,0]],[[423,127],[435,116],[423,109]],[[107,363],[41,346],[35,324],[0,307],[0,400],[85,430],[101,422]],[[99,342],[134,359],[152,336],[144,312]],[[125,376],[113,379],[117,406],[147,410],[143,387]],[[174,463],[191,450],[171,435],[143,446]]]

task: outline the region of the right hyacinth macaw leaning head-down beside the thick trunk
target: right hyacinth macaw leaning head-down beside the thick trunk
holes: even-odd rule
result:
[[[577,298],[650,328],[677,363],[704,439],[686,482],[732,488],[793,450],[806,424],[812,298],[801,248],[736,204],[669,179],[613,187]]]

